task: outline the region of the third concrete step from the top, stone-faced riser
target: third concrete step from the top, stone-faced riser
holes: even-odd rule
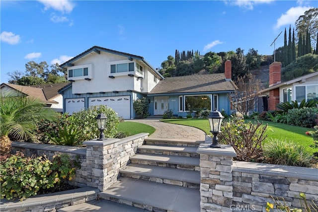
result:
[[[131,156],[130,161],[131,163],[200,171],[200,159],[197,157],[140,153]]]

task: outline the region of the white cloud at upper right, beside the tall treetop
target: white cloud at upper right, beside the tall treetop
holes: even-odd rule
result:
[[[290,8],[286,13],[282,14],[278,19],[274,26],[274,29],[278,29],[284,25],[294,25],[295,21],[299,18],[299,16],[303,15],[307,10],[311,7],[306,6],[297,6]]]

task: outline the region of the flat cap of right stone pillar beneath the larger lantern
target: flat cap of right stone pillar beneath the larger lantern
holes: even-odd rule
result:
[[[211,143],[201,143],[197,149],[198,154],[236,157],[237,153],[231,145],[221,145],[221,148],[211,148]]]

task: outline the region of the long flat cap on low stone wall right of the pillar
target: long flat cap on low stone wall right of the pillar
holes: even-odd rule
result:
[[[317,168],[233,161],[232,171],[318,181]]]

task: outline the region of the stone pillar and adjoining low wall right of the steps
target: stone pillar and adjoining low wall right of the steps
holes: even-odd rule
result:
[[[299,194],[318,205],[318,169],[234,161],[232,146],[200,144],[201,212],[265,211],[273,198],[302,208]],[[284,204],[284,203],[283,203]]]

